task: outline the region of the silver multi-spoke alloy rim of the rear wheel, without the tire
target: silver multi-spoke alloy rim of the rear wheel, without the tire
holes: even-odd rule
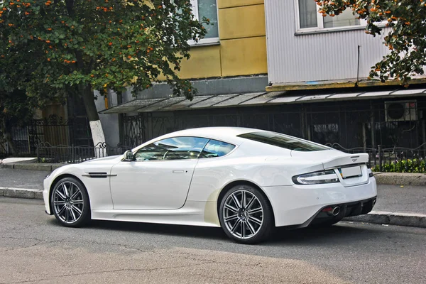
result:
[[[252,192],[236,190],[225,200],[223,217],[229,233],[238,239],[250,239],[262,227],[263,207]]]

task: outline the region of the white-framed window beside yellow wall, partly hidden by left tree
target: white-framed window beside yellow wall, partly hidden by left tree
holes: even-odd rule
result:
[[[194,40],[190,40],[191,45],[197,44],[209,44],[219,43],[219,28],[217,26],[217,0],[191,0],[192,13],[195,18],[202,21],[203,17],[210,20],[210,25],[204,26],[207,30],[207,34],[204,35],[202,40],[196,43]]]

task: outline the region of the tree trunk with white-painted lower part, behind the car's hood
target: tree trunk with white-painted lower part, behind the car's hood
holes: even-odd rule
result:
[[[86,107],[87,118],[89,119],[90,130],[92,131],[93,145],[97,148],[95,148],[96,157],[104,157],[106,156],[106,151],[99,149],[99,147],[104,147],[104,130],[102,129],[99,114],[94,104],[94,96],[90,85],[82,86],[81,92],[84,107]]]

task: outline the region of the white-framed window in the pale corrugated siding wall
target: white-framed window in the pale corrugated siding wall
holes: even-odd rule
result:
[[[318,13],[319,6],[314,0],[295,0],[297,10],[297,30],[316,31],[348,29],[349,27],[364,26],[364,21],[357,19],[351,9],[346,9],[339,16],[325,16]]]

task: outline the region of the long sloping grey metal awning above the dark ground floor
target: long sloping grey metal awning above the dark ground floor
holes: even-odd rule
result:
[[[256,92],[248,94],[217,94],[195,96],[192,101],[185,97],[160,99],[134,99],[100,114],[124,114],[129,112],[178,111],[189,109],[211,109],[219,107],[251,107],[258,105],[297,104],[306,102],[332,102],[349,99],[377,99],[381,97],[425,96],[426,89],[390,89],[368,92]]]

